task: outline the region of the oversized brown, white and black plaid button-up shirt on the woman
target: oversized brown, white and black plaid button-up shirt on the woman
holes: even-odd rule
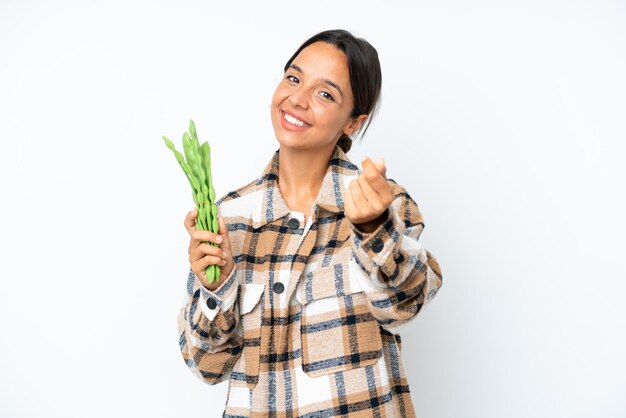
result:
[[[442,283],[418,241],[417,205],[388,180],[387,219],[360,232],[342,199],[359,169],[335,147],[305,223],[280,194],[278,154],[217,202],[235,268],[213,292],[189,273],[178,317],[187,366],[209,384],[230,379],[225,417],[414,417],[390,329]]]

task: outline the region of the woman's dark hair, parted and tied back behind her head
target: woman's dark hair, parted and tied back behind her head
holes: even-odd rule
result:
[[[382,73],[378,52],[365,39],[356,38],[350,32],[343,29],[326,30],[313,35],[307,39],[300,48],[289,58],[285,64],[284,71],[287,72],[289,66],[298,54],[307,46],[315,42],[326,42],[334,45],[346,54],[348,58],[348,74],[350,76],[350,88],[354,97],[354,108],[351,117],[368,115],[364,125],[359,130],[363,130],[361,137],[365,135],[367,128],[372,121],[375,111],[378,108],[380,90],[382,85]],[[363,128],[365,126],[365,128]],[[352,147],[352,138],[342,134],[337,142],[344,152],[348,152]]]

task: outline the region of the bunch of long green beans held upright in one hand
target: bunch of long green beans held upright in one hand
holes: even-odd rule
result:
[[[183,151],[185,157],[176,150],[172,141],[163,136],[165,146],[167,146],[176,157],[176,161],[185,172],[192,189],[193,201],[198,208],[196,218],[196,229],[199,231],[211,231],[215,234],[219,232],[217,221],[217,206],[215,206],[215,190],[213,189],[213,179],[211,177],[211,147],[208,142],[202,145],[198,142],[196,125],[193,120],[189,121],[189,133],[183,134]],[[186,158],[186,160],[185,160]],[[213,246],[218,244],[206,242]],[[205,270],[209,283],[220,281],[220,268],[211,264]]]

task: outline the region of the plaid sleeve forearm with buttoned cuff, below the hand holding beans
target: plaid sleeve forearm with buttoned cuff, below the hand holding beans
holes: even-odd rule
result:
[[[192,271],[187,278],[188,298],[178,315],[179,347],[192,373],[209,384],[224,380],[241,355],[238,276],[235,266],[215,291]]]

